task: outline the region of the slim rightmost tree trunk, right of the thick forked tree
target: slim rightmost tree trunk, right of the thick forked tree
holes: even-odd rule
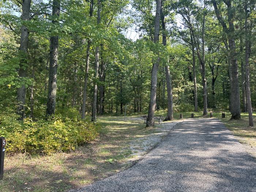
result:
[[[247,1],[246,1],[247,2]],[[253,126],[253,116],[252,116],[252,102],[251,102],[251,90],[250,90],[250,69],[249,69],[249,58],[251,54],[251,31],[248,30],[248,10],[247,3],[245,4],[245,82],[246,82],[246,98],[248,105],[249,114],[249,125]]]

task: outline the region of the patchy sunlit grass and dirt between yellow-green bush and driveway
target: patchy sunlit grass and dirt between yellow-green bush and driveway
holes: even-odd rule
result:
[[[103,116],[98,121],[102,124],[99,138],[73,153],[7,154],[0,191],[64,192],[90,184],[131,166],[130,143],[157,132],[144,129],[144,121],[124,121],[121,116]]]

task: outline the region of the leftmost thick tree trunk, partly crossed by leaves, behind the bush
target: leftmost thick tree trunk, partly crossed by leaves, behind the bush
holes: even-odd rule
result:
[[[28,21],[30,19],[30,5],[31,0],[23,0],[22,4],[22,15],[21,19],[23,21]],[[22,58],[20,59],[19,64],[19,77],[26,77],[26,68],[27,68],[27,50],[29,46],[29,29],[25,26],[21,26],[21,34],[20,34],[20,52]],[[25,84],[22,83],[21,87],[17,90],[17,101],[18,101],[18,109],[17,113],[19,114],[19,119],[23,120],[25,118],[25,102],[26,102],[26,87]]]

